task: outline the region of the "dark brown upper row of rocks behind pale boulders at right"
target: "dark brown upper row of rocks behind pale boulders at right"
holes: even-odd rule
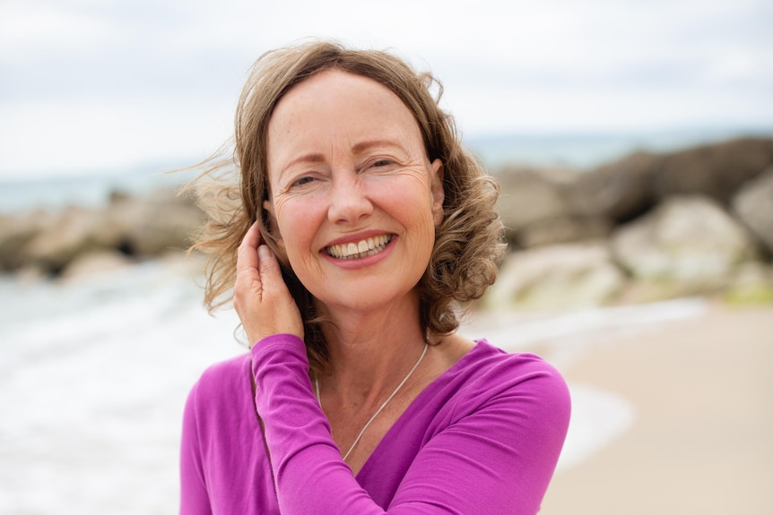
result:
[[[635,152],[583,172],[506,167],[497,173],[499,211],[517,248],[586,241],[675,195],[702,194],[729,205],[771,165],[773,140],[743,138],[664,154]]]

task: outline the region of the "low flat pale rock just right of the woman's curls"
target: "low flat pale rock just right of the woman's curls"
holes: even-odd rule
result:
[[[625,277],[604,243],[554,245],[511,253],[484,298],[492,309],[574,309],[603,305]]]

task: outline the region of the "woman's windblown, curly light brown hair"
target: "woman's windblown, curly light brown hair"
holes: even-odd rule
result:
[[[349,49],[327,41],[284,47],[258,58],[239,98],[233,154],[222,157],[226,150],[221,150],[205,160],[200,165],[204,172],[189,185],[208,214],[192,247],[209,255],[204,303],[212,312],[229,302],[237,249],[256,220],[266,245],[277,253],[263,207],[269,191],[268,124],[288,90],[329,69],[368,77],[393,91],[419,124],[430,162],[440,159],[443,164],[444,219],[417,288],[425,338],[449,334],[458,329],[462,305],[479,299],[497,277],[505,251],[502,222],[494,208],[499,185],[462,147],[453,117],[439,107],[442,85],[430,73],[416,73],[388,52]],[[325,372],[329,356],[314,299],[287,262],[282,262],[282,275],[304,319],[312,370]]]

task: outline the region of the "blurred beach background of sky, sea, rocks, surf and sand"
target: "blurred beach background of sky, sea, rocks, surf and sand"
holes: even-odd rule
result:
[[[179,420],[244,352],[175,190],[249,66],[391,49],[499,177],[510,253],[462,331],[574,415],[543,513],[773,511],[773,4],[0,0],[0,511],[177,510]]]

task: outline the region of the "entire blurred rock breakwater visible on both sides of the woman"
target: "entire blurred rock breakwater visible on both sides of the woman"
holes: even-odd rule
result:
[[[773,139],[497,176],[512,252],[484,305],[773,301]],[[0,271],[67,279],[125,266],[187,248],[203,218],[173,191],[0,217]]]

